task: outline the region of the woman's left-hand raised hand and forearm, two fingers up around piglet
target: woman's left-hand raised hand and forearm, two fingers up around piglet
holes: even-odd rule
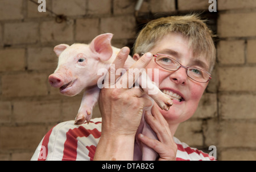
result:
[[[115,68],[109,70],[109,76],[115,75],[111,72],[123,68],[128,54],[129,48],[122,48],[113,62]],[[145,68],[151,58],[152,54],[146,53],[131,68]],[[148,98],[141,97],[144,94],[141,88],[128,89],[130,85],[123,85],[129,83],[129,80],[133,80],[134,83],[139,75],[126,72],[119,77],[120,75],[115,75],[114,81],[106,80],[104,85],[108,84],[108,88],[103,88],[100,92],[102,132],[94,160],[133,160],[134,137],[141,122],[144,106],[152,104]]]

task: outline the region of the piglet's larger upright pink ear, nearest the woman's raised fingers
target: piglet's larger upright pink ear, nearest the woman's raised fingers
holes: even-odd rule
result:
[[[95,37],[90,42],[90,49],[98,55],[102,61],[107,61],[112,56],[113,50],[111,46],[112,33],[104,33]]]

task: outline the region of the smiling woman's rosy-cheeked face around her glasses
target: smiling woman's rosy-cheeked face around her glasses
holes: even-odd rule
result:
[[[192,49],[188,46],[187,38],[180,33],[170,33],[156,42],[154,48],[150,50],[152,54],[166,54],[174,58],[181,65],[186,67],[196,67],[208,71],[209,62],[206,59],[194,57]],[[199,83],[192,80],[187,75],[187,69],[180,67],[177,71],[168,71],[158,66],[154,59],[147,68],[158,68],[159,78],[154,78],[148,73],[153,81],[159,85],[159,89],[166,93],[172,94],[178,100],[173,100],[170,110],[160,110],[169,124],[178,124],[191,118],[197,109],[200,98],[204,93],[208,83]],[[160,108],[159,108],[160,109]]]

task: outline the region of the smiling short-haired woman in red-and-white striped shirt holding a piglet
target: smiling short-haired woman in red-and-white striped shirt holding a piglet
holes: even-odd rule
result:
[[[114,61],[116,69],[123,67],[128,54],[128,48],[121,49]],[[139,135],[159,154],[158,160],[212,159],[181,143],[174,134],[179,124],[195,113],[207,88],[215,54],[212,32],[197,15],[152,20],[139,33],[133,55],[137,62],[131,68],[158,68],[158,79],[154,72],[148,75],[173,98],[170,110],[161,110],[155,104],[152,115],[145,115],[158,140]],[[81,126],[73,125],[73,121],[58,124],[41,141],[32,160],[133,160],[142,111],[151,105],[142,95],[139,88],[102,89],[102,119]],[[47,151],[42,152],[43,148]]]

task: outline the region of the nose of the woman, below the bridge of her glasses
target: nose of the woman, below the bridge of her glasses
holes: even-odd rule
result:
[[[188,80],[187,69],[184,67],[180,67],[178,70],[172,72],[172,74],[170,75],[170,79],[176,84],[184,85],[185,83],[187,83]]]

